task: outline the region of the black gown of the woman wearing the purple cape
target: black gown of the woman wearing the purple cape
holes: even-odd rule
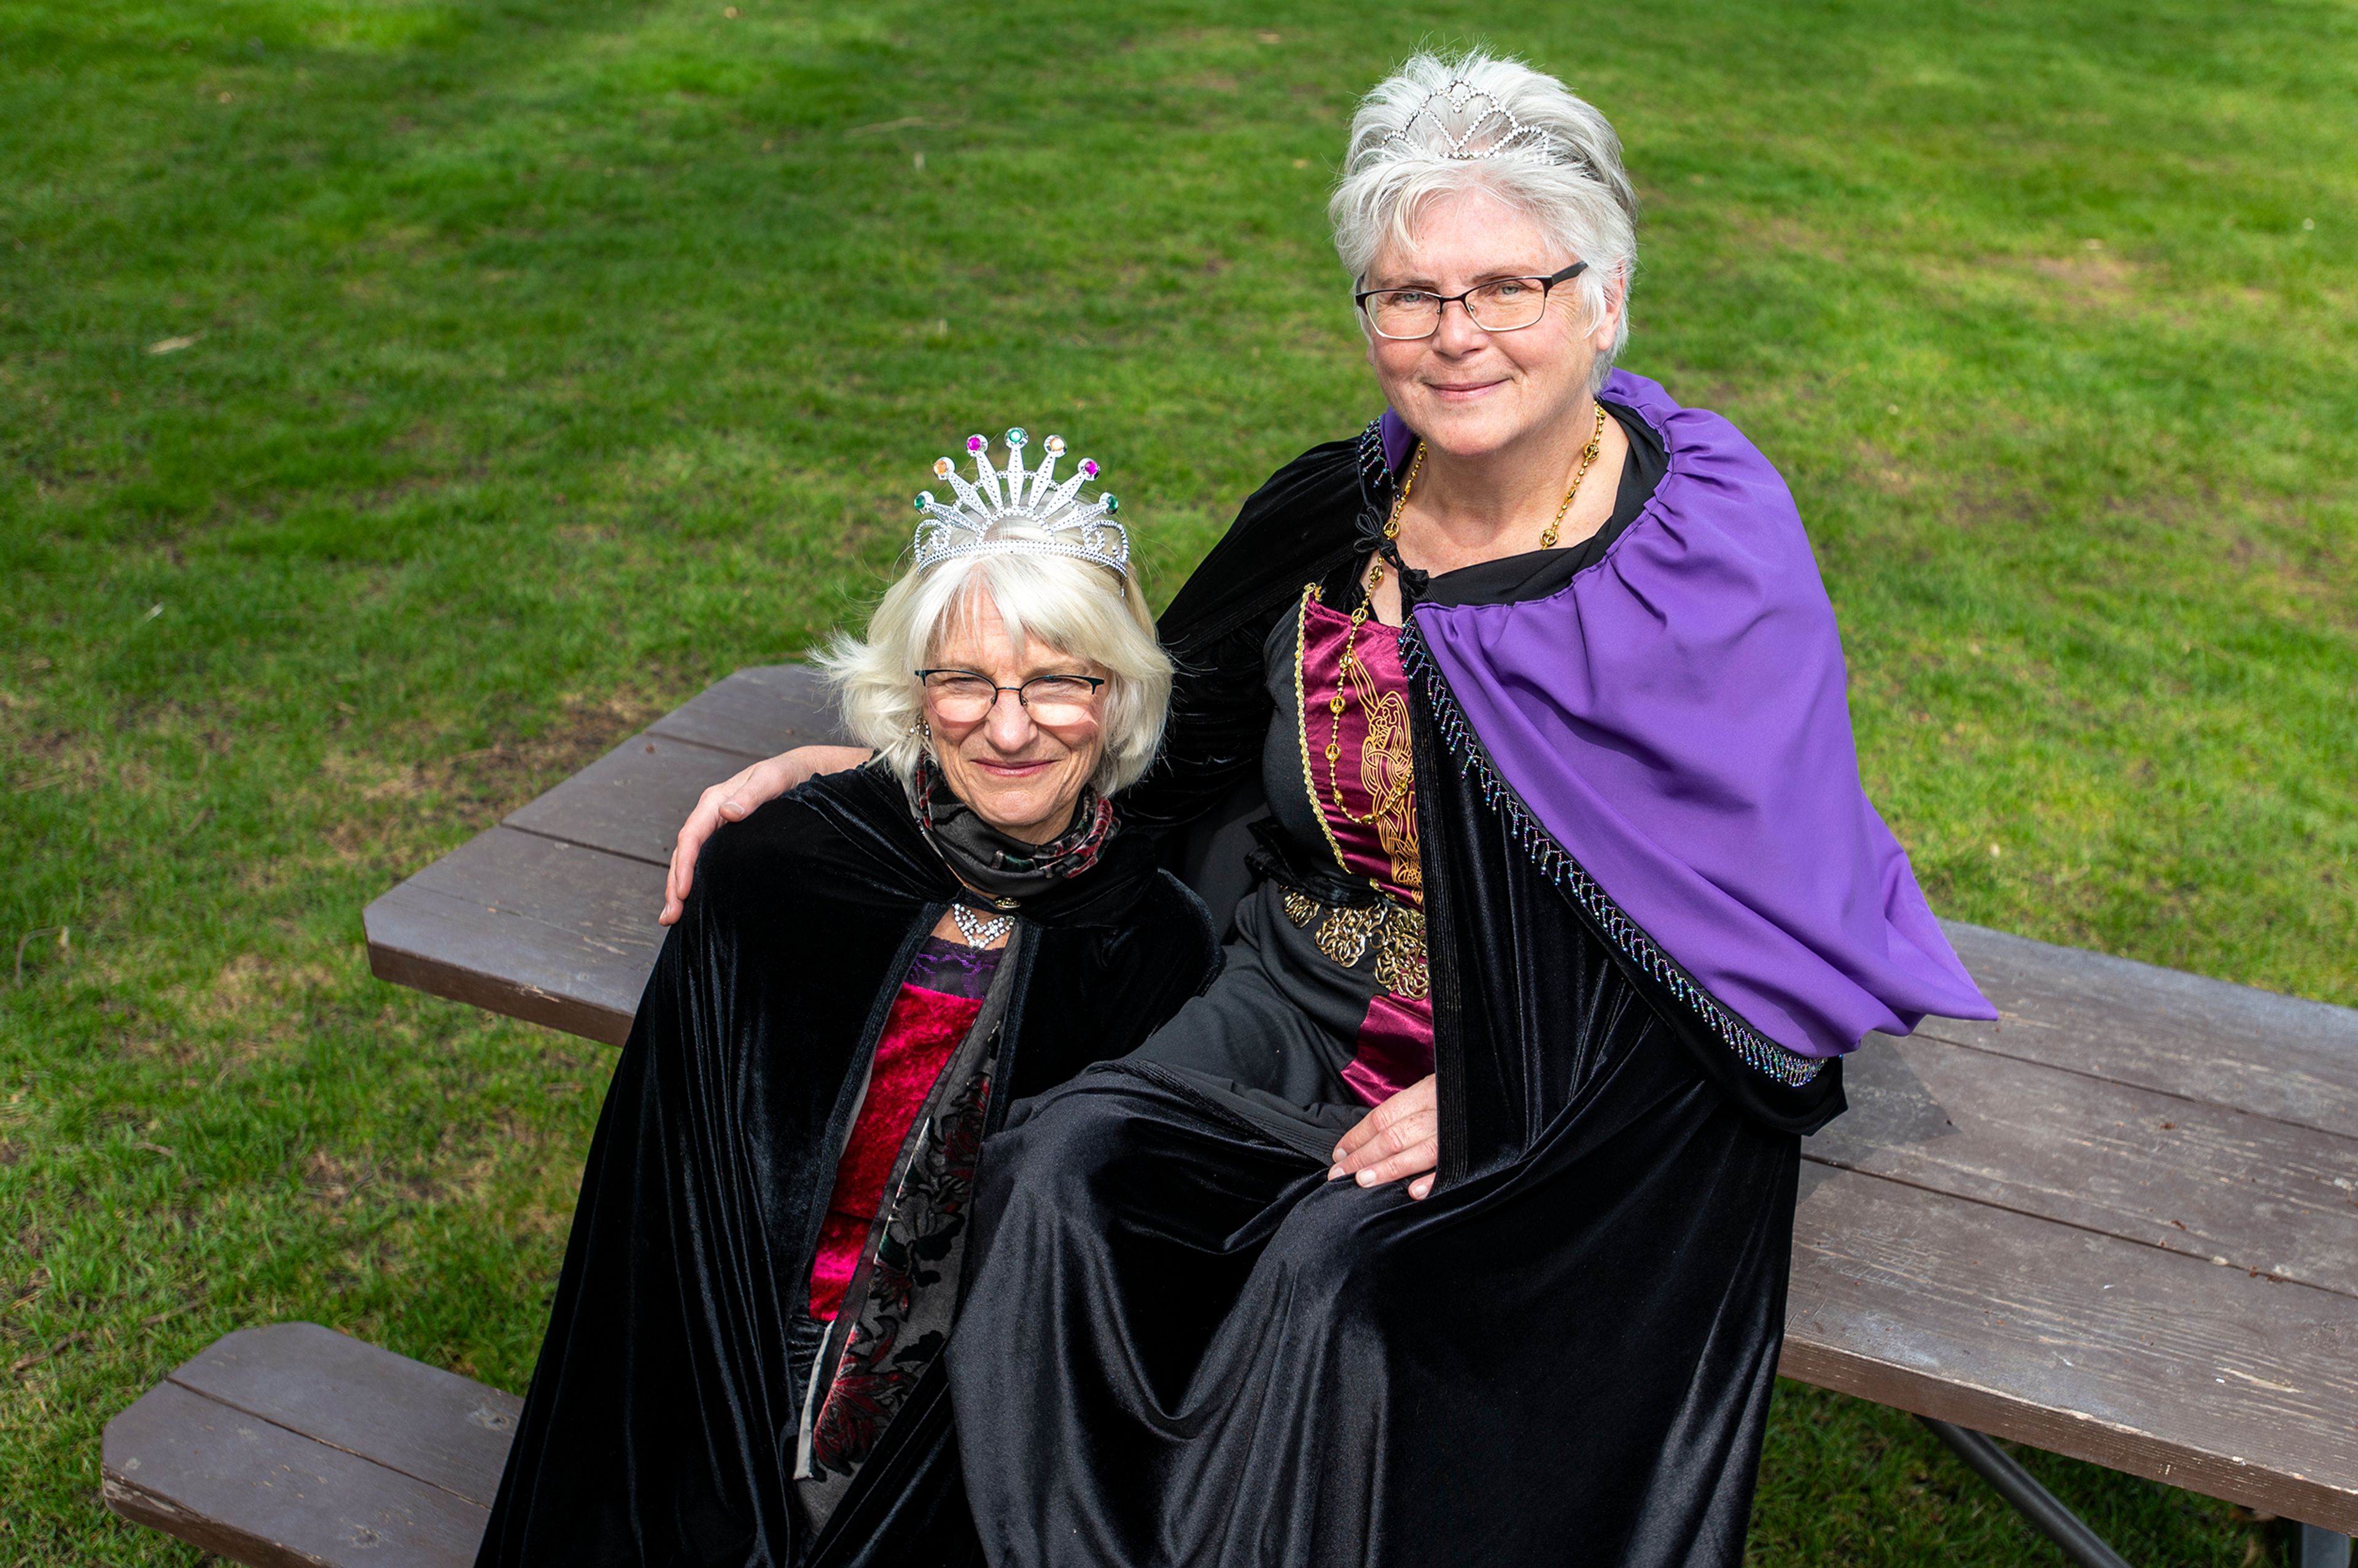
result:
[[[1238,865],[1285,729],[1264,655],[1306,580],[1339,601],[1389,498],[1372,429],[1306,453],[1162,622],[1188,674],[1129,806],[1217,910],[1316,861]],[[1585,559],[1403,587],[1544,594]],[[990,1141],[948,1361],[995,1568],[1740,1561],[1797,1134],[1839,1068],[1794,1089],[1719,1045],[1526,854],[1445,719],[1412,684],[1434,1195],[1325,1181],[1361,1106],[1304,1068],[1313,1023],[1238,1049],[1276,962],[1245,903],[1205,997]]]

